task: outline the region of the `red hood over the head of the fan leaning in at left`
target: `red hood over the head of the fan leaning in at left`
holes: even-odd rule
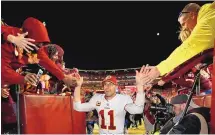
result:
[[[28,32],[29,38],[35,40],[35,43],[50,42],[47,29],[41,21],[29,17],[24,21],[22,28],[24,32]]]

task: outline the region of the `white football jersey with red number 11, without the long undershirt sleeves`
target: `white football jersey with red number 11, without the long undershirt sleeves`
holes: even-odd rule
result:
[[[100,134],[123,134],[125,122],[125,105],[133,103],[131,97],[116,94],[111,100],[106,100],[104,94],[92,99],[99,115]]]

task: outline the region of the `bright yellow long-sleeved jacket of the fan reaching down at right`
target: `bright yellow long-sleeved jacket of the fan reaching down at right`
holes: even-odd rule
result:
[[[171,55],[156,67],[163,76],[180,64],[204,50],[214,47],[215,41],[215,2],[201,7],[197,24],[189,38],[177,47]]]

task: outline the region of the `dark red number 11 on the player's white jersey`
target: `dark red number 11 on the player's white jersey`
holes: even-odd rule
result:
[[[105,125],[104,110],[99,111],[99,115],[101,115],[101,128],[107,129],[107,125]],[[108,116],[110,118],[110,125],[108,126],[108,129],[109,130],[116,130],[116,126],[114,126],[114,111],[109,110]]]

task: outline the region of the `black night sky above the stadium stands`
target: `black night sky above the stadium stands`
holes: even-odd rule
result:
[[[65,50],[66,67],[118,69],[168,57],[180,45],[177,18],[188,3],[2,1],[1,10],[8,25],[21,27],[30,16],[45,21],[52,43]]]

